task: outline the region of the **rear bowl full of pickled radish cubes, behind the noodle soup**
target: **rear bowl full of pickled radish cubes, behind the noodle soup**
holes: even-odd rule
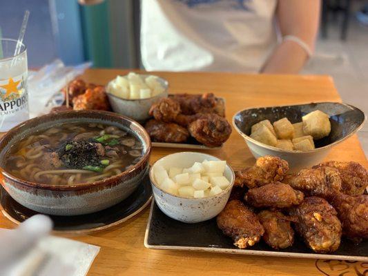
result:
[[[153,103],[168,96],[168,82],[154,75],[130,72],[117,76],[106,86],[111,108],[116,113],[145,121]]]

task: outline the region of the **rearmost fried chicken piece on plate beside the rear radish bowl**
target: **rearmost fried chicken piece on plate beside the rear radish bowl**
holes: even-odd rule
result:
[[[217,99],[213,93],[199,95],[175,94],[170,95],[170,98],[180,103],[180,109],[183,115],[215,113],[221,117],[225,117],[224,101]]]

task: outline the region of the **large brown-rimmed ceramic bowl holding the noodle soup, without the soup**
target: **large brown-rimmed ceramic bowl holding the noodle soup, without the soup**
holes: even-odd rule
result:
[[[1,169],[10,146],[37,130],[64,123],[100,123],[130,131],[142,141],[142,159],[119,175],[88,184],[49,185],[19,179]],[[0,140],[0,181],[3,188],[19,204],[50,215],[84,215],[97,212],[126,199],[148,173],[151,140],[136,121],[104,111],[68,111],[49,114],[19,124]]]

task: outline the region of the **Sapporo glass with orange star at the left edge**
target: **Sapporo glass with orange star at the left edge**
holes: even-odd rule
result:
[[[17,43],[20,52],[15,55]],[[27,51],[14,39],[0,39],[0,132],[29,119]]]

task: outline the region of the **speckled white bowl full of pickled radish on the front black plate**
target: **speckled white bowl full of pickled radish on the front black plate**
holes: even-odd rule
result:
[[[155,202],[168,217],[186,223],[212,219],[225,207],[235,175],[226,161],[200,152],[178,152],[151,167]]]

